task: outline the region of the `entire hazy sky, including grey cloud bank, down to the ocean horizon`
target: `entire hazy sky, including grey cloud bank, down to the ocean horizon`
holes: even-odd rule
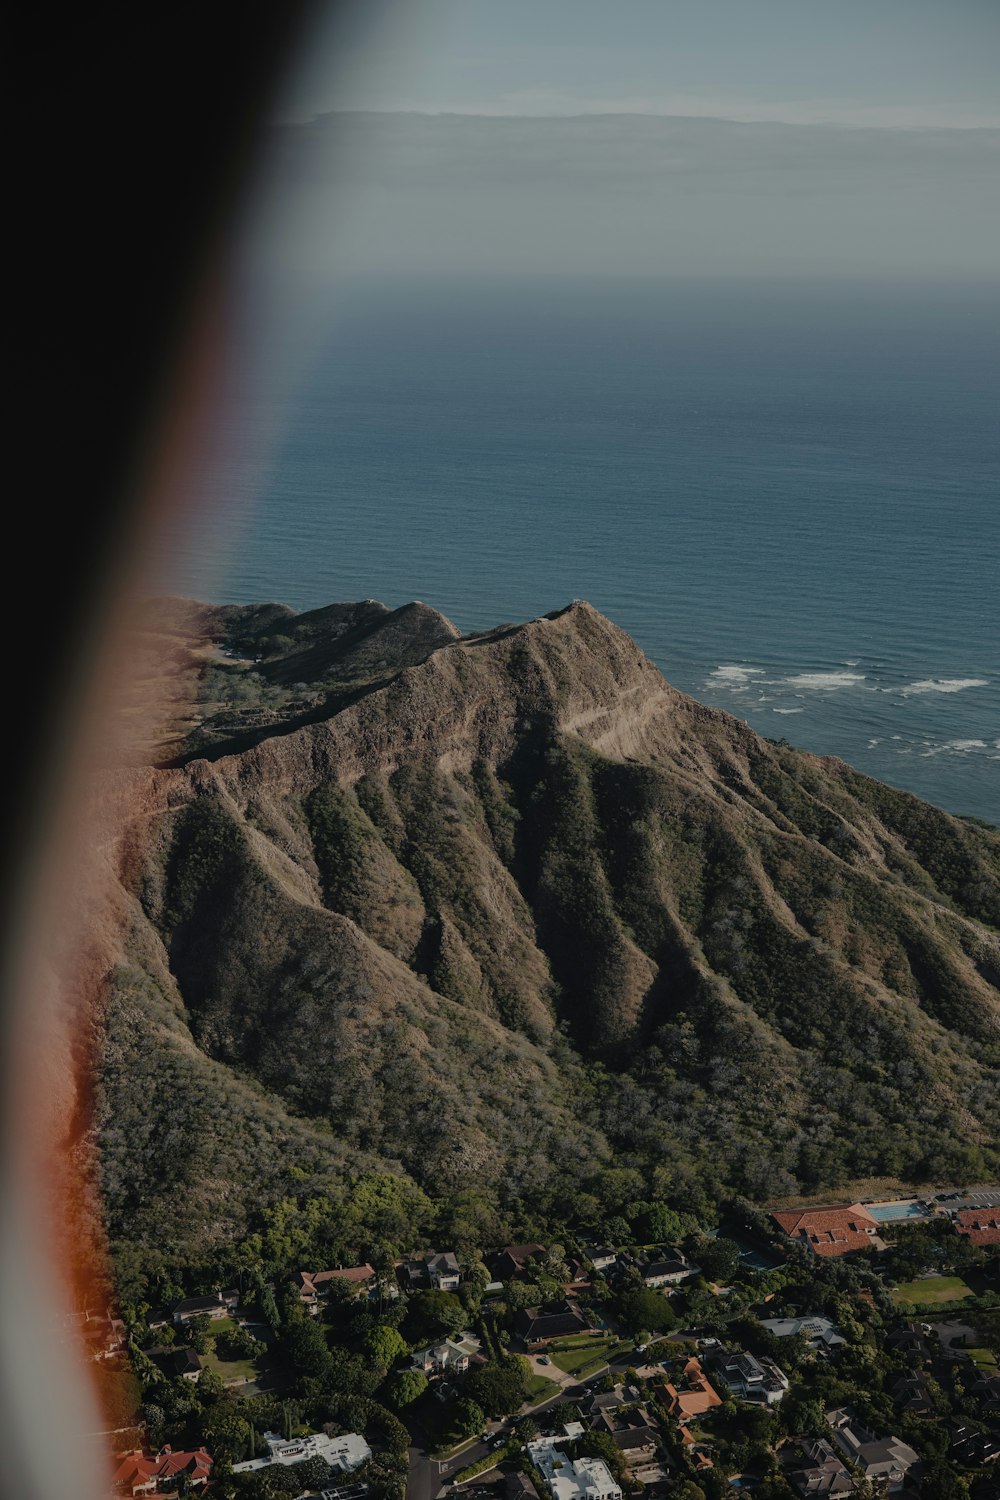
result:
[[[996,280],[1000,0],[321,4],[253,272]]]

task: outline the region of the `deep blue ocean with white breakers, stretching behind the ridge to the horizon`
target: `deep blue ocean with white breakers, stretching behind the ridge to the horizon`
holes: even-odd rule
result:
[[[163,572],[462,630],[589,598],[684,692],[1000,820],[999,350],[999,288],[354,286]]]

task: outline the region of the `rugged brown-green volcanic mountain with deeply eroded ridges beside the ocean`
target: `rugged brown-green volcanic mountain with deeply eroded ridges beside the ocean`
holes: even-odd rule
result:
[[[996,830],[762,740],[582,602],[462,638],[162,600],[135,656],[172,686],[106,772],[97,1107],[139,1284],[282,1203],[372,1256],[1000,1167]]]

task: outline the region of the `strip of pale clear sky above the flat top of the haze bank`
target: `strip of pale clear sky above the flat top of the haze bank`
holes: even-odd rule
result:
[[[282,111],[333,108],[1000,126],[1000,4],[367,0],[346,21],[321,4]]]

